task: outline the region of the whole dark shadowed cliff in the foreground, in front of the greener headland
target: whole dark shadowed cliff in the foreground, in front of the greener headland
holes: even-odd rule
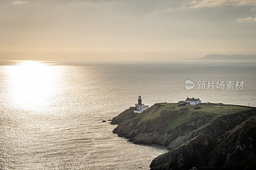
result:
[[[256,167],[255,120],[256,117],[248,118],[219,137],[206,134],[197,135],[179,147],[153,159],[150,167],[153,170],[191,169],[194,166],[197,169],[250,169]],[[191,147],[184,149],[186,145]]]

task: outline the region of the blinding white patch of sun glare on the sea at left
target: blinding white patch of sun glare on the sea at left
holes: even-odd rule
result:
[[[14,107],[46,107],[57,91],[57,67],[41,61],[20,61],[6,67],[9,98]]]

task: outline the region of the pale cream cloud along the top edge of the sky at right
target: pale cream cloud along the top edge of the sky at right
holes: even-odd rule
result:
[[[193,0],[190,7],[255,6],[256,0]]]

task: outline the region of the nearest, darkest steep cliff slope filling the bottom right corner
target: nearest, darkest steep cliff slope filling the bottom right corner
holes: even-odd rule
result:
[[[249,118],[217,139],[208,168],[241,164],[256,158],[256,122]]]

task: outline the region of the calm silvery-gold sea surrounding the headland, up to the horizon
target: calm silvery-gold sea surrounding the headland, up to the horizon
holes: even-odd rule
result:
[[[244,84],[186,90],[186,80]],[[128,143],[102,120],[139,95],[150,106],[187,97],[256,106],[255,83],[255,62],[0,61],[0,169],[149,169],[167,150]]]

